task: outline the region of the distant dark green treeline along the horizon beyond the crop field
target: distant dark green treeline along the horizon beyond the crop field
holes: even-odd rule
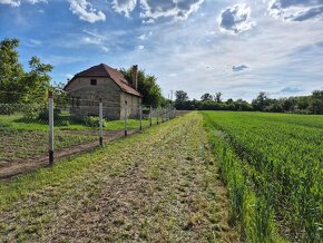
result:
[[[177,109],[323,114],[323,90],[314,90],[310,96],[278,99],[272,99],[266,93],[262,91],[251,104],[243,99],[227,99],[224,101],[222,100],[222,93],[204,94],[200,100],[189,100],[187,93],[177,90],[175,97]]]

